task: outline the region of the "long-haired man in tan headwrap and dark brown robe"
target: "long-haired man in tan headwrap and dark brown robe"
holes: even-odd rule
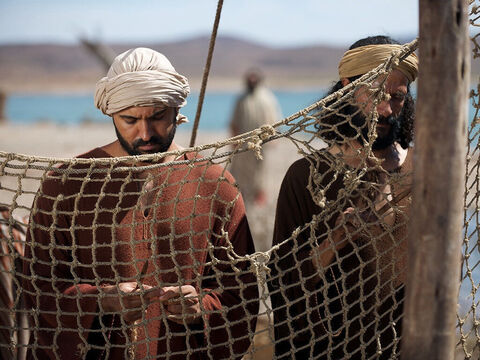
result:
[[[400,49],[385,36],[357,41],[329,94]],[[317,125],[327,147],[284,177],[269,264],[278,359],[399,358],[417,68],[410,54],[327,103]]]

